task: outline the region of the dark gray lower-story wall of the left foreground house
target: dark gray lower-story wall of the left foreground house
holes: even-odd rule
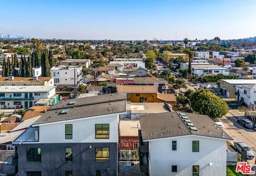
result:
[[[117,143],[61,143],[61,144],[21,144],[18,146],[19,176],[27,171],[41,171],[42,176],[65,175],[73,171],[73,176],[117,175]],[[90,148],[92,146],[92,148]],[[73,162],[65,162],[65,148],[73,147]],[[109,147],[109,162],[95,162],[95,147]],[[27,163],[26,148],[41,148],[41,163]]]

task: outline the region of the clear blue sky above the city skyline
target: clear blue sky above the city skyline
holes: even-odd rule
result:
[[[1,0],[0,33],[62,39],[256,36],[255,0]]]

